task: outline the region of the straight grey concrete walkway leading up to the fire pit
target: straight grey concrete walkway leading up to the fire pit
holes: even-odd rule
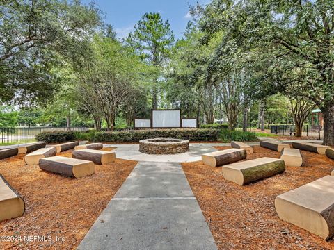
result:
[[[140,162],[78,249],[217,248],[180,163]]]

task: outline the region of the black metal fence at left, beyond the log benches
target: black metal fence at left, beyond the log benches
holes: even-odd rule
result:
[[[15,142],[31,142],[35,135],[52,131],[88,131],[87,127],[31,127],[31,128],[0,128],[0,144]]]

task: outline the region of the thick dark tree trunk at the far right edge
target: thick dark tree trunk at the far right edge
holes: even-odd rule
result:
[[[324,113],[324,145],[334,146],[334,104],[326,105]]]

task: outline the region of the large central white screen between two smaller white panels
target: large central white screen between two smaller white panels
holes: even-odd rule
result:
[[[180,110],[152,110],[152,128],[180,128]]]

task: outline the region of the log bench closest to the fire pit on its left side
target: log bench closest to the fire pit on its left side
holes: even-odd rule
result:
[[[115,153],[94,149],[79,149],[72,152],[72,157],[81,160],[91,160],[95,164],[107,164],[115,161]]]

